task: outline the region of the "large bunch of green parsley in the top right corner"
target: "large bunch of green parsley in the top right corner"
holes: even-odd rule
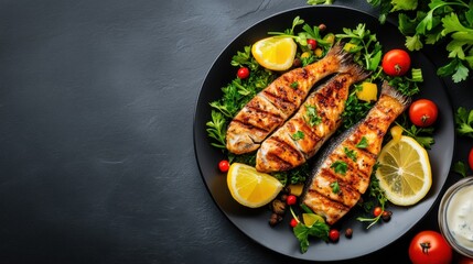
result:
[[[447,38],[449,63],[437,70],[441,77],[451,76],[454,82],[465,80],[473,69],[473,1],[432,0],[368,0],[380,8],[380,21],[387,13],[397,12],[399,31],[406,35],[406,47],[419,51],[423,44],[437,44]],[[401,11],[416,10],[415,16]]]

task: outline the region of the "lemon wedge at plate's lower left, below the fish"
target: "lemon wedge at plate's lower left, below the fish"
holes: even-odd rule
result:
[[[277,178],[241,163],[232,164],[227,185],[236,201],[251,208],[269,204],[282,189],[282,184]]]

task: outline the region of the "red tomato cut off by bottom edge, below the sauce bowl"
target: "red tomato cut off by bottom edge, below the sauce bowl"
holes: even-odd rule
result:
[[[410,241],[409,258],[413,264],[447,264],[452,261],[452,248],[439,232],[421,231]]]

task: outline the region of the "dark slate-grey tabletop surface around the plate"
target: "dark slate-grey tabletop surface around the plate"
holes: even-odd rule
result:
[[[335,3],[376,13],[364,0]],[[219,52],[255,22],[304,6],[1,1],[0,262],[298,263],[218,210],[198,173],[192,124]],[[443,62],[439,51],[428,54]],[[454,108],[473,106],[472,81],[447,84]],[[473,143],[456,141],[453,160],[465,161]],[[436,213],[353,263],[408,262],[416,231],[438,230]]]

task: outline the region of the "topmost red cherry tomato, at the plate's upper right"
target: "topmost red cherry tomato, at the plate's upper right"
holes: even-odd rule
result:
[[[383,57],[383,70],[389,76],[402,76],[410,68],[410,56],[402,50],[391,50]]]

